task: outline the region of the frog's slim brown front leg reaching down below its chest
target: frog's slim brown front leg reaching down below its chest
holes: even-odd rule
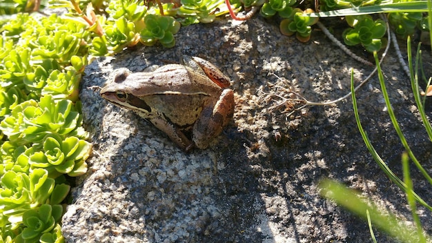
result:
[[[166,119],[160,117],[152,117],[148,119],[153,125],[155,125],[159,130],[166,133],[173,142],[175,142],[180,148],[188,151],[193,148],[193,142],[184,135],[184,133],[177,128],[177,126],[170,124]]]

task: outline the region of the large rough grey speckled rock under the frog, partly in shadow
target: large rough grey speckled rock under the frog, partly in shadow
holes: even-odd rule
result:
[[[94,152],[63,216],[68,242],[368,241],[366,222],[320,197],[317,183],[325,177],[411,220],[404,194],[364,146],[351,97],[290,116],[282,112],[298,104],[272,109],[276,97],[259,99],[262,92],[288,97],[291,90],[310,101],[331,101],[349,92],[351,68],[358,84],[373,67],[348,57],[320,30],[304,44],[282,36],[277,23],[262,17],[233,22],[182,27],[174,48],[139,46],[86,68],[81,101]],[[184,153],[152,124],[88,89],[111,81],[119,68],[138,72],[179,62],[184,54],[211,61],[232,78],[235,90],[233,122],[206,150]],[[431,142],[411,108],[409,79],[393,51],[382,68],[404,133],[418,159],[430,164]],[[404,149],[383,111],[376,77],[358,90],[357,99],[369,138],[402,176]],[[432,198],[417,174],[418,193]],[[430,234],[431,212],[419,213]],[[393,241],[380,231],[375,236]]]

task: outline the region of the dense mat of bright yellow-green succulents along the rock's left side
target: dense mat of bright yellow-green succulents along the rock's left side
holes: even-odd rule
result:
[[[95,35],[87,27],[55,14],[1,21],[0,242],[63,242],[63,173],[84,173],[91,148],[77,95]],[[40,152],[48,166],[35,163]]]

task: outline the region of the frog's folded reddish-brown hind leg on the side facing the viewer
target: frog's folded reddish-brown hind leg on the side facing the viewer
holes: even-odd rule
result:
[[[192,140],[198,148],[207,148],[208,144],[222,132],[234,113],[233,90],[222,91],[219,100],[213,106],[204,107],[193,126]]]

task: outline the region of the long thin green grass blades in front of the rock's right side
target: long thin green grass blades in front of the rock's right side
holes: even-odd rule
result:
[[[420,91],[419,91],[419,84],[418,84],[418,66],[420,64],[420,58],[421,58],[421,50],[420,46],[417,51],[416,55],[416,61],[415,66],[413,66],[412,61],[412,53],[411,53],[411,40],[408,39],[407,41],[407,47],[408,47],[408,56],[409,56],[409,69],[411,72],[411,85],[413,89],[413,94],[415,96],[415,101],[418,106],[419,113],[422,117],[422,121],[424,123],[424,127],[426,129],[426,132],[428,133],[429,137],[431,138],[431,124],[429,123],[429,120],[426,117],[426,114],[424,112],[424,99],[421,99],[420,97]],[[382,70],[380,67],[380,62],[377,57],[377,53],[374,52],[375,57],[375,64],[377,66],[377,74],[378,78],[380,79],[380,86],[382,89],[382,95],[384,97],[384,100],[386,102],[386,107],[389,112],[389,117],[391,118],[391,122],[393,124],[393,128],[395,129],[398,137],[400,138],[400,141],[402,145],[404,146],[406,152],[401,155],[402,160],[402,171],[404,178],[403,180],[397,177],[395,173],[391,170],[389,166],[386,165],[384,160],[378,155],[377,151],[373,147],[369,137],[366,134],[366,131],[362,127],[362,124],[360,122],[360,116],[357,109],[357,99],[355,98],[355,90],[354,90],[354,81],[353,81],[353,72],[351,72],[351,97],[353,99],[353,110],[355,114],[355,121],[357,122],[358,129],[360,131],[360,134],[362,135],[362,138],[364,140],[364,143],[366,144],[366,147],[369,150],[369,153],[371,153],[373,159],[375,159],[375,162],[380,166],[384,174],[389,177],[389,179],[397,185],[405,194],[406,194],[406,202],[409,205],[409,208],[411,209],[411,215],[413,217],[413,222],[415,225],[415,229],[412,229],[413,227],[409,227],[404,225],[400,220],[397,219],[395,215],[391,214],[384,214],[382,210],[378,209],[373,202],[366,202],[366,200],[362,199],[360,196],[358,196],[356,193],[354,193],[352,190],[349,190],[342,184],[339,184],[337,182],[332,182],[329,180],[324,180],[322,182],[321,188],[323,189],[322,195],[324,197],[327,197],[331,200],[334,200],[337,204],[340,206],[343,206],[344,208],[347,208],[348,211],[351,211],[355,213],[356,215],[359,215],[360,217],[364,217],[364,219],[368,220],[369,228],[371,230],[371,239],[373,242],[376,242],[375,235],[373,234],[372,227],[377,227],[378,229],[388,233],[392,237],[397,238],[398,240],[401,240],[402,242],[426,242],[427,240],[431,240],[431,235],[426,235],[422,229],[422,225],[420,223],[420,218],[418,217],[416,211],[418,208],[418,204],[421,206],[424,206],[424,208],[428,209],[429,211],[432,211],[432,207],[429,206],[422,198],[415,193],[413,190],[413,182],[411,180],[410,175],[410,164],[409,161],[411,159],[411,162],[415,165],[416,168],[422,173],[424,179],[429,182],[429,184],[432,185],[431,176],[426,172],[426,170],[422,167],[421,163],[418,161],[418,159],[413,154],[409,144],[406,142],[406,139],[402,133],[402,130],[400,129],[399,124],[397,123],[397,119],[395,117],[395,113],[393,112],[393,108],[391,106],[391,101],[389,99],[389,95],[386,90],[386,84],[384,80],[384,75],[382,74]],[[430,80],[429,80],[430,81]],[[429,83],[428,81],[428,83]],[[346,198],[350,198],[349,202],[346,200]],[[384,222],[384,224],[383,224]]]

